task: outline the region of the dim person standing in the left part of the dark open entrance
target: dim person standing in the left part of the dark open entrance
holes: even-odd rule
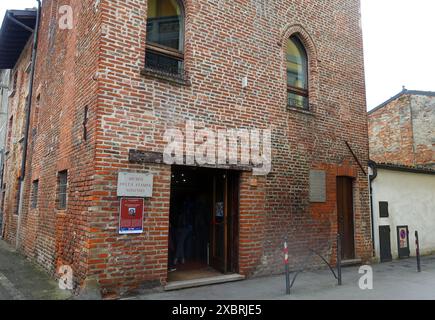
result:
[[[193,209],[192,198],[187,197],[183,202],[183,206],[177,221],[177,250],[175,253],[175,265],[177,265],[179,262],[182,264],[185,263],[186,239],[193,230]]]

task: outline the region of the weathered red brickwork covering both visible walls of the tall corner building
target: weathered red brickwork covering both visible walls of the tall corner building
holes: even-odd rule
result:
[[[72,30],[56,24],[65,4],[74,11]],[[106,293],[165,284],[171,167],[133,164],[128,155],[163,152],[165,130],[194,120],[212,130],[272,130],[272,172],[255,186],[252,173],[241,174],[241,274],[281,273],[285,236],[292,268],[311,248],[334,260],[337,176],[354,178],[356,256],[370,260],[368,181],[346,146],[366,168],[359,1],[185,0],[184,8],[189,81],[183,84],[141,74],[147,1],[43,2],[20,248],[52,273],[71,265],[77,285],[96,277]],[[286,103],[285,45],[292,34],[309,56],[307,112]],[[312,169],[327,173],[325,203],[309,201]],[[56,193],[63,170],[68,206],[62,211]],[[141,235],[118,234],[119,171],[154,174]],[[14,241],[12,170],[8,179],[6,236]],[[39,204],[31,209],[37,179]]]

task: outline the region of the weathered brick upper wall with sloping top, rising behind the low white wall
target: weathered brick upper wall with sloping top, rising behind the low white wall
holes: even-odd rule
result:
[[[435,168],[435,92],[404,89],[369,112],[370,158]]]

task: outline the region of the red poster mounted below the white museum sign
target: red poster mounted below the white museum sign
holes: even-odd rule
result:
[[[143,232],[144,199],[121,198],[119,233],[137,234]]]

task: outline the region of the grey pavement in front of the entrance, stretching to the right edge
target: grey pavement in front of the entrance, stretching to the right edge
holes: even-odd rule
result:
[[[343,269],[338,287],[329,270],[302,273],[285,295],[284,276],[265,277],[173,292],[140,295],[140,300],[433,300],[435,299],[435,256],[422,259],[418,273],[415,258],[374,265],[373,290],[361,290],[358,267]]]

